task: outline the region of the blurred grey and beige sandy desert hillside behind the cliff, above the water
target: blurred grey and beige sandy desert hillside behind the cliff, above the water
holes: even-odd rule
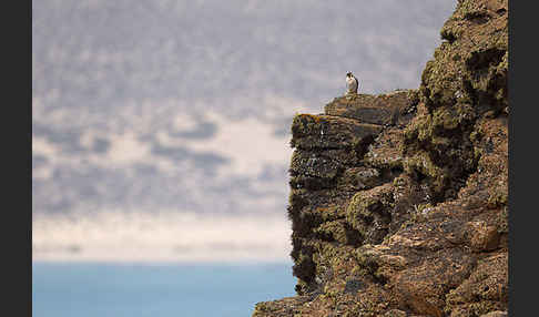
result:
[[[415,89],[455,1],[32,2],[32,257],[289,262],[289,124]]]

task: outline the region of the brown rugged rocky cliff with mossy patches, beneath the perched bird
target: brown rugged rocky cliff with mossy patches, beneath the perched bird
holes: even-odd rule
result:
[[[294,117],[297,296],[253,316],[507,314],[508,1],[458,1],[440,34],[417,90]]]

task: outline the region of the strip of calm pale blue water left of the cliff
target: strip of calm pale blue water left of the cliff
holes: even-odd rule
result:
[[[292,264],[33,263],[33,317],[248,317],[294,295]]]

